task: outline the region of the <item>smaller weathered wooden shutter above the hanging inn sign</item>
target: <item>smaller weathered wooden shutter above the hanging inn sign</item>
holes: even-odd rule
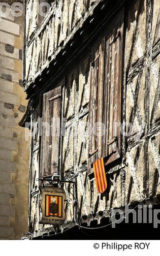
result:
[[[43,95],[40,164],[43,177],[59,173],[60,170],[61,102],[62,83],[57,88]],[[49,128],[49,134],[47,134],[46,128]]]

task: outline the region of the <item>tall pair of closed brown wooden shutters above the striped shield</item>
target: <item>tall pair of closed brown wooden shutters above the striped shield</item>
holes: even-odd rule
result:
[[[105,134],[90,135],[89,170],[101,157],[108,164],[121,156],[123,23],[121,10],[99,37],[96,50],[93,48],[89,122],[92,127],[103,123]]]

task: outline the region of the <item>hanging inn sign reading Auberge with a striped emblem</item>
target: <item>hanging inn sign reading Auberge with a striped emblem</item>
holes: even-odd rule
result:
[[[52,186],[40,187],[42,192],[40,224],[63,225],[66,215],[64,204],[66,195],[64,189]]]

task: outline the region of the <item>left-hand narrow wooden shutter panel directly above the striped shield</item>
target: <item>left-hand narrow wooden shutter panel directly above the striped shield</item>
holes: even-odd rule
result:
[[[96,123],[102,122],[104,39],[100,43],[97,42],[97,44],[96,50],[94,49],[91,70],[89,123],[92,128],[94,128]],[[90,134],[88,158],[91,166],[97,158],[101,158],[101,138],[94,131]]]

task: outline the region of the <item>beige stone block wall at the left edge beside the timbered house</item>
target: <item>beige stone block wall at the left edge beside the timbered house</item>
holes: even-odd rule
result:
[[[22,46],[23,16],[9,14],[0,21],[0,239],[28,231],[29,142],[18,126],[27,105]]]

